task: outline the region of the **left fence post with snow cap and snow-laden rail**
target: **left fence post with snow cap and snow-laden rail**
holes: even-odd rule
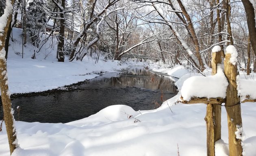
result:
[[[184,104],[207,104],[206,135],[207,156],[215,156],[215,142],[221,139],[221,104],[226,101],[228,81],[221,65],[221,48],[212,50],[212,76],[191,77],[181,89],[181,102]],[[207,89],[206,89],[207,87]],[[195,89],[196,88],[196,89]],[[196,91],[195,91],[196,90]]]

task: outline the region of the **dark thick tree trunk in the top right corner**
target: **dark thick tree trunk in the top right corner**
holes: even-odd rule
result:
[[[245,7],[245,13],[247,18],[247,26],[250,35],[250,41],[252,44],[252,49],[256,56],[256,28],[255,28],[255,14],[254,7],[249,0],[242,0],[243,6]]]

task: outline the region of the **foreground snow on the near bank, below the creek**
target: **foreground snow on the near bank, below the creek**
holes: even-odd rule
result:
[[[177,97],[176,97],[177,98]],[[129,106],[104,108],[88,118],[67,124],[16,121],[20,148],[12,156],[175,156],[206,155],[205,104],[174,105],[151,111],[134,111]],[[256,145],[255,106],[241,105],[247,156]],[[252,109],[253,108],[253,109]],[[112,113],[113,111],[113,113]],[[127,118],[127,114],[141,120]],[[215,145],[218,156],[228,155],[226,111],[222,109],[222,139]],[[7,135],[0,133],[0,155],[8,156]]]

